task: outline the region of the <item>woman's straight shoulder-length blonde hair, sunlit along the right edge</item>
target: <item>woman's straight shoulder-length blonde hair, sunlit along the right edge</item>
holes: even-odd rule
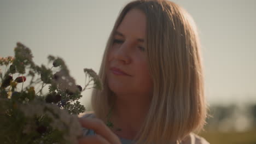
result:
[[[104,73],[106,56],[114,32],[131,9],[139,9],[146,15],[146,49],[154,83],[150,109],[137,142],[182,140],[203,127],[207,112],[197,29],[187,11],[173,2],[132,1],[121,10],[110,33],[99,72],[104,90],[93,91],[92,109],[96,117],[106,122],[108,110],[115,100]]]

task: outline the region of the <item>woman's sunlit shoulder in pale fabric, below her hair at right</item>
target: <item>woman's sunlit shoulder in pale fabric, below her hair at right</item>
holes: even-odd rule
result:
[[[181,144],[210,144],[208,141],[203,139],[203,137],[196,135],[194,133],[190,133],[185,139],[181,142]]]

